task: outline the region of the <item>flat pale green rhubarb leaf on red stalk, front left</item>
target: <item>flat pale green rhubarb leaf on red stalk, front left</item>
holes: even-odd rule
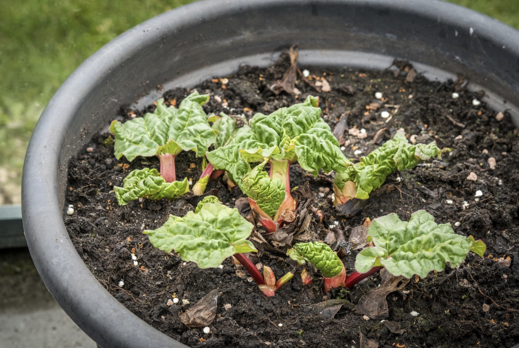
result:
[[[218,267],[222,261],[237,253],[255,252],[246,240],[252,224],[221,203],[205,203],[198,213],[184,217],[170,215],[156,230],[146,230],[149,241],[158,249],[174,250],[184,261],[198,263],[200,268]]]

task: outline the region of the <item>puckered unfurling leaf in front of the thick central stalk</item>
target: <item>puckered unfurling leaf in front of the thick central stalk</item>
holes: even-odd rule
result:
[[[280,179],[271,179],[268,173],[263,171],[264,165],[265,163],[257,165],[243,178],[243,193],[255,200],[268,216],[274,218],[285,199],[285,186]]]

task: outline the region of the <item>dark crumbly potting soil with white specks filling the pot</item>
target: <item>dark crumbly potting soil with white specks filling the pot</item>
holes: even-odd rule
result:
[[[134,169],[158,169],[159,162],[156,158],[137,158],[131,163],[117,160],[113,138],[104,133],[71,161],[66,199],[75,213],[65,219],[77,252],[99,282],[149,325],[192,347],[358,347],[360,332],[379,347],[508,348],[519,343],[519,133],[510,115],[503,110],[504,119],[498,121],[496,112],[484,102],[474,105],[484,94],[468,91],[461,77],[444,83],[428,81],[413,76],[412,66],[405,62],[382,72],[312,68],[307,81],[298,76],[298,98],[284,92],[275,95],[268,87],[288,67],[288,57],[282,55],[270,68],[243,66],[227,76],[228,81],[212,79],[195,89],[211,95],[204,105],[208,114],[225,112],[248,118],[303,101],[309,94],[318,95],[322,117],[332,130],[343,116],[343,150],[356,160],[379,146],[373,139],[383,128],[387,130],[379,133],[379,141],[403,128],[409,138],[415,135],[419,143],[436,141],[443,149],[442,160],[390,175],[380,189],[383,193],[365,201],[354,216],[333,206],[333,174],[313,178],[292,165],[292,186],[308,182],[315,194],[313,206],[324,215],[322,223],[318,215],[312,215],[309,231],[323,240],[327,230],[340,229],[348,239],[365,217],[394,212],[408,220],[411,213],[425,209],[437,222],[450,222],[457,233],[481,238],[487,245],[485,256],[469,253],[458,268],[446,267],[426,279],[412,279],[402,292],[389,294],[386,322],[366,320],[346,306],[326,319],[309,313],[304,305],[336,298],[356,304],[380,284],[379,275],[349,291],[334,289],[325,294],[318,275],[311,286],[302,287],[296,274],[275,297],[266,298],[255,283],[236,275],[230,259],[223,262],[223,269],[202,270],[177,254],[154,248],[142,231],[158,228],[169,214],[183,216],[194,210],[196,198],[189,193],[171,202],[142,200],[119,206],[113,186],[122,186],[122,179]],[[330,92],[312,87],[323,79],[329,82]],[[375,92],[382,92],[383,98],[377,100]],[[453,98],[454,92],[458,98]],[[175,89],[164,96],[168,103],[178,104],[189,93]],[[153,109],[154,105],[144,110],[123,108],[114,118],[127,120]],[[384,111],[391,116],[381,117]],[[365,133],[359,133],[360,129]],[[490,158],[496,161],[495,169],[490,168]],[[177,178],[188,177],[195,183],[201,163],[193,152],[182,152],[176,159]],[[468,179],[471,173],[475,180]],[[212,180],[210,189],[216,189],[231,207],[240,196],[239,190],[229,191],[222,178]],[[478,190],[483,196],[476,201]],[[343,258],[348,273],[357,253],[351,250]],[[292,269],[285,258],[265,254],[261,262],[279,277]],[[179,312],[216,288],[220,295],[211,332],[182,324]],[[181,301],[168,305],[174,297]],[[189,304],[183,305],[183,299]],[[412,316],[413,311],[418,314]]]

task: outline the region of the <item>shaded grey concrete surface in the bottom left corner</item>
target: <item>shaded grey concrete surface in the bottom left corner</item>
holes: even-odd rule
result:
[[[96,346],[54,301],[29,250],[0,249],[0,347]]]

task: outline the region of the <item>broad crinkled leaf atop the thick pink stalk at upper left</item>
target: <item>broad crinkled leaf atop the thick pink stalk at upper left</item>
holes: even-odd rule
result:
[[[115,156],[118,159],[125,156],[132,161],[137,156],[176,156],[182,150],[193,150],[197,156],[203,156],[218,133],[209,126],[202,108],[208,99],[208,95],[195,91],[178,109],[166,107],[160,99],[153,114],[147,113],[125,123],[113,121],[110,131],[115,133]]]

